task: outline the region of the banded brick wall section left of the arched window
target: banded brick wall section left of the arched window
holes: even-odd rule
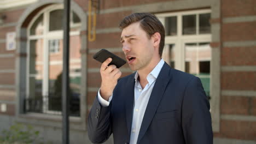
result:
[[[13,9],[3,11],[1,15],[5,15],[6,19],[0,25],[0,105],[6,105],[6,111],[0,110],[0,115],[15,115],[15,59],[16,51],[6,50],[5,37],[8,32],[15,32],[15,23],[23,13],[24,9]]]

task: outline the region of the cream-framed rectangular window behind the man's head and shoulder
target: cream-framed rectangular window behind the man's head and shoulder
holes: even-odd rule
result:
[[[193,10],[157,14],[165,26],[162,58],[172,68],[199,77],[210,98],[211,11]]]

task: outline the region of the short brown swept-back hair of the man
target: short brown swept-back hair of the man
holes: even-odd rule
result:
[[[156,32],[159,32],[161,35],[161,40],[159,44],[159,55],[162,56],[162,50],[165,45],[165,28],[159,19],[150,13],[133,13],[124,17],[124,19],[120,22],[120,29],[124,29],[125,27],[131,25],[131,23],[140,22],[141,28],[148,34],[149,38]]]

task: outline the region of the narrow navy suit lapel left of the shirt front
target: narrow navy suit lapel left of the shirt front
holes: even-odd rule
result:
[[[134,103],[134,86],[135,86],[135,74],[132,74],[130,79],[127,81],[127,85],[125,85],[126,91],[124,92],[125,96],[125,112],[126,112],[126,124],[127,130],[130,137],[131,135],[131,124],[132,124],[132,115],[133,115],[133,103]],[[129,139],[130,141],[130,139]]]

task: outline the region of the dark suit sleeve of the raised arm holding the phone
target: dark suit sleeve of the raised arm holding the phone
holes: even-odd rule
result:
[[[110,107],[101,106],[97,97],[88,116],[88,136],[92,143],[103,143],[112,134]]]

